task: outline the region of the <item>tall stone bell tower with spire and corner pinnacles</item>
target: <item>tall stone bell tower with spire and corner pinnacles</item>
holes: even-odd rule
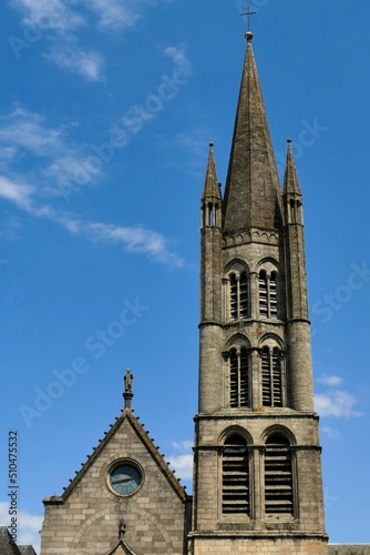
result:
[[[189,554],[327,554],[302,196],[281,189],[246,34],[224,198],[202,198],[199,401]]]

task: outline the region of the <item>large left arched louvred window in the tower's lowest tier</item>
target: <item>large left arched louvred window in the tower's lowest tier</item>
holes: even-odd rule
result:
[[[249,461],[246,441],[233,434],[223,451],[223,514],[249,515]]]

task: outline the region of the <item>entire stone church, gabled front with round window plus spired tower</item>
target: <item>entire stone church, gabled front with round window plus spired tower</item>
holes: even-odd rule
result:
[[[61,496],[41,555],[345,555],[328,546],[314,408],[302,195],[281,189],[248,32],[224,194],[202,196],[199,401],[188,496],[131,407]]]

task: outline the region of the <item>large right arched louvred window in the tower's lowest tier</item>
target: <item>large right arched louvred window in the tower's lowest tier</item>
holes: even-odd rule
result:
[[[280,433],[266,442],[265,514],[294,515],[291,447]]]

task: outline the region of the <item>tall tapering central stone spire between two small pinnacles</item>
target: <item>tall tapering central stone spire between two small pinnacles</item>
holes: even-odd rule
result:
[[[281,188],[251,38],[251,32],[247,32],[247,53],[224,201],[226,232],[281,228]]]

